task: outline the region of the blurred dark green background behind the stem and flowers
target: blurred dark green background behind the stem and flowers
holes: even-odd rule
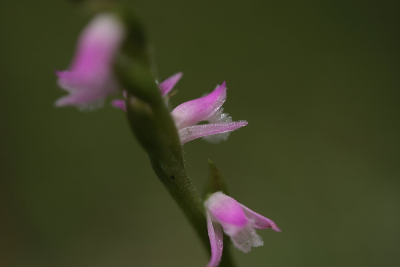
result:
[[[185,145],[232,196],[273,219],[238,266],[398,266],[398,1],[132,1],[172,103],[226,80],[248,126]],[[205,266],[123,112],[55,108],[88,18],[67,1],[2,0],[0,266]]]

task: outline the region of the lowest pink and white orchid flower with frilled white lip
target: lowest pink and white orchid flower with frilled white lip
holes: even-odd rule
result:
[[[276,232],[281,231],[272,220],[252,211],[222,192],[212,194],[204,205],[211,244],[211,259],[208,267],[218,266],[221,261],[224,247],[222,229],[235,247],[244,253],[249,252],[251,247],[264,245],[254,228],[272,228]]]

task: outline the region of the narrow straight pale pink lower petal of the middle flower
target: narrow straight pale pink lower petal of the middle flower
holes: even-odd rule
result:
[[[238,120],[233,122],[219,122],[209,124],[199,124],[189,126],[178,131],[180,142],[182,145],[193,139],[204,137],[206,135],[215,135],[223,132],[232,132],[240,127],[247,125],[246,120]]]

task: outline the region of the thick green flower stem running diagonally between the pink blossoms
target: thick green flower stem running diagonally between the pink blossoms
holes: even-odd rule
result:
[[[186,174],[178,132],[150,70],[143,29],[128,8],[118,10],[126,24],[127,34],[116,60],[115,72],[128,92],[128,122],[148,153],[158,179],[178,203],[210,253],[203,200]],[[220,266],[234,266],[229,253],[223,253]]]

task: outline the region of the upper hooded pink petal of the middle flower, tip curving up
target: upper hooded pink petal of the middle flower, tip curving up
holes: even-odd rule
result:
[[[223,82],[210,94],[184,102],[172,110],[176,127],[182,129],[193,126],[217,112],[226,100],[226,84]]]

